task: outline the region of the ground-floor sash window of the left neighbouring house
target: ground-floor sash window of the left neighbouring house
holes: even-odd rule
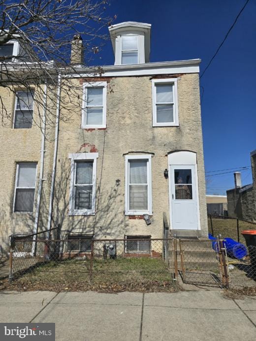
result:
[[[36,162],[19,162],[16,168],[14,212],[33,212]]]

